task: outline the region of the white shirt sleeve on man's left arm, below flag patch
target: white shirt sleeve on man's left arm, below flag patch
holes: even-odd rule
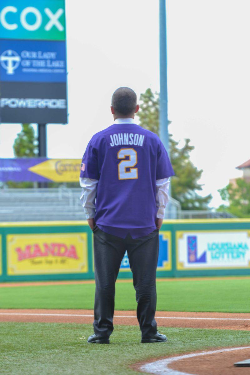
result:
[[[80,177],[80,186],[82,187],[80,201],[82,202],[86,219],[93,219],[96,213],[95,200],[98,181],[93,178]]]

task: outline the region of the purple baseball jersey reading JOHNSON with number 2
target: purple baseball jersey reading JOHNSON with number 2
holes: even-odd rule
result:
[[[159,137],[136,124],[113,124],[96,133],[82,158],[80,177],[99,180],[97,225],[155,228],[156,180],[174,175]]]

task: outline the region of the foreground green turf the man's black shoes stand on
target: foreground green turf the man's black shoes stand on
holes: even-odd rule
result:
[[[139,328],[116,326],[111,344],[87,344],[79,337],[91,325],[0,323],[0,374],[132,375],[129,365],[175,353],[249,345],[249,332],[162,328],[169,342],[141,344]],[[138,374],[138,372],[137,372]],[[142,374],[142,373],[140,373]]]

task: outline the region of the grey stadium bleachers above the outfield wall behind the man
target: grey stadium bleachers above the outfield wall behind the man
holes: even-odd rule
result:
[[[84,220],[80,202],[81,189],[0,189],[0,220]],[[181,211],[180,203],[170,198],[166,219],[201,219],[233,217],[226,212]]]

